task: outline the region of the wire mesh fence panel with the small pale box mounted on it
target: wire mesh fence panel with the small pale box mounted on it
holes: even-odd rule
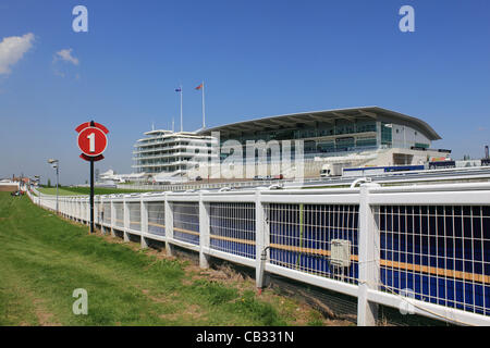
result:
[[[270,203],[271,263],[357,284],[358,206]]]

